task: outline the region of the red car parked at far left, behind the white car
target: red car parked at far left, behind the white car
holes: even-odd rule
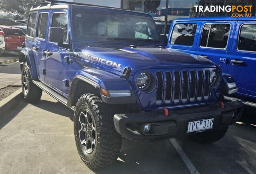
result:
[[[25,41],[25,34],[19,28],[0,25],[0,29],[4,32],[5,51],[20,51],[22,43]]]

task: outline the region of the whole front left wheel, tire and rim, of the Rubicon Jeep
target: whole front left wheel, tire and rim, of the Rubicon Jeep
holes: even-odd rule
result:
[[[116,161],[122,137],[114,128],[112,107],[94,94],[82,95],[74,112],[74,135],[82,161],[91,169]]]

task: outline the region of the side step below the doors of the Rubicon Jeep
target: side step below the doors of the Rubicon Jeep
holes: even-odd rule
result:
[[[44,92],[46,92],[47,94],[49,94],[50,96],[52,96],[53,98],[55,98],[56,100],[58,100],[59,102],[61,102],[62,104],[64,104],[65,106],[67,106],[68,104],[68,99],[64,98],[63,96],[61,96],[60,94],[58,94],[57,92],[54,92],[54,90],[52,90],[51,88],[49,88],[48,86],[46,86],[45,84],[43,84],[42,82],[33,80],[33,83],[38,86],[39,88],[41,88]],[[74,107],[71,107],[70,109],[75,110]]]

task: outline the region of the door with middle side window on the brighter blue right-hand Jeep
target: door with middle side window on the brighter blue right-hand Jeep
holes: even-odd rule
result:
[[[195,54],[208,56],[226,72],[235,24],[235,21],[203,21]]]

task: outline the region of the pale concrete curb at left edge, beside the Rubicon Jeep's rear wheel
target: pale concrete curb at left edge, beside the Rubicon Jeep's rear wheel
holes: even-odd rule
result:
[[[0,101],[0,115],[10,111],[22,99],[22,88]]]

